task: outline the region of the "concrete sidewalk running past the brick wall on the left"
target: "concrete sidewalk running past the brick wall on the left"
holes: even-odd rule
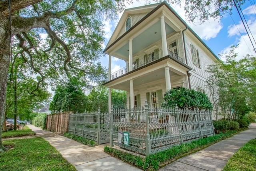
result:
[[[103,146],[89,147],[72,139],[28,125],[32,131],[46,139],[78,171],[139,171],[140,169],[111,157]]]

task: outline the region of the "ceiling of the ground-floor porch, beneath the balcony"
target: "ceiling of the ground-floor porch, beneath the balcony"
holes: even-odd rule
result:
[[[173,77],[179,76],[175,72],[170,71],[171,80]],[[133,81],[134,89],[140,85],[148,84],[150,82],[156,82],[157,80],[165,79],[164,68],[155,70],[143,76],[137,77]],[[114,89],[122,89],[122,90],[129,90],[130,89],[130,81],[122,82],[120,84],[114,85]]]

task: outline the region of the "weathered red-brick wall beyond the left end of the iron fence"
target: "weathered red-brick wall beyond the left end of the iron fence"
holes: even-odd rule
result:
[[[65,133],[68,132],[69,115],[71,112],[64,112],[60,114],[47,115],[46,119],[46,130]]]

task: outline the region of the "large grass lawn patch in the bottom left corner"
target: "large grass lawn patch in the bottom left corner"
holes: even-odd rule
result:
[[[6,140],[3,144],[10,149],[0,153],[0,170],[76,170],[48,141],[41,137]]]

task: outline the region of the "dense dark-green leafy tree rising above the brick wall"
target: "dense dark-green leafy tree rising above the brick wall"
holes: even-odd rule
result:
[[[50,110],[52,113],[60,113],[61,111],[82,113],[86,108],[86,102],[86,95],[80,85],[77,82],[69,82],[56,88],[50,103]]]

